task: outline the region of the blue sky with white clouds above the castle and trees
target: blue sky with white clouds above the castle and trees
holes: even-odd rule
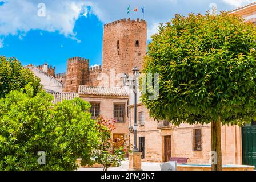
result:
[[[103,24],[131,18],[133,9],[145,7],[148,39],[157,32],[158,24],[174,14],[205,13],[212,5],[218,10],[232,10],[250,0],[0,0],[0,55],[17,57],[23,65],[45,62],[66,72],[69,57],[85,57],[90,65],[102,63]],[[38,10],[45,5],[45,16]],[[39,11],[42,13],[42,11]]]

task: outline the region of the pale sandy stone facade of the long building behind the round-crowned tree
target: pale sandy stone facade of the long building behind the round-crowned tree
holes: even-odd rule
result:
[[[131,108],[133,116],[134,108]],[[139,137],[145,137],[145,159],[150,162],[164,162],[165,136],[171,136],[171,156],[187,157],[187,163],[209,164],[211,147],[210,125],[181,124],[174,127],[162,127],[157,121],[149,117],[145,106],[139,105],[137,111],[145,113],[145,125],[138,126],[137,143]],[[131,123],[133,125],[133,117]],[[160,126],[160,127],[159,127]],[[194,151],[193,130],[202,129],[202,151]],[[130,142],[133,143],[133,134]],[[238,126],[222,126],[222,161],[223,164],[242,164],[242,139],[241,128]]]

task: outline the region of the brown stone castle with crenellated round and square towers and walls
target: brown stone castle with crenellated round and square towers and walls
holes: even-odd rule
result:
[[[130,73],[134,66],[141,69],[146,55],[146,31],[146,21],[138,18],[107,23],[104,25],[102,66],[89,67],[89,59],[77,56],[67,59],[67,73],[55,74],[55,67],[48,67],[47,63],[38,68],[62,82],[63,92],[78,92],[79,85],[99,86],[102,73],[110,75],[112,68],[115,74]]]

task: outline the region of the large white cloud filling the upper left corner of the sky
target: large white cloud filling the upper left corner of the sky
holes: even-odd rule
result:
[[[22,38],[30,30],[58,31],[74,40],[77,40],[73,32],[75,22],[87,11],[86,5],[90,5],[82,0],[45,0],[46,16],[38,16],[38,3],[34,0],[4,2],[0,6],[0,35],[21,35]]]

